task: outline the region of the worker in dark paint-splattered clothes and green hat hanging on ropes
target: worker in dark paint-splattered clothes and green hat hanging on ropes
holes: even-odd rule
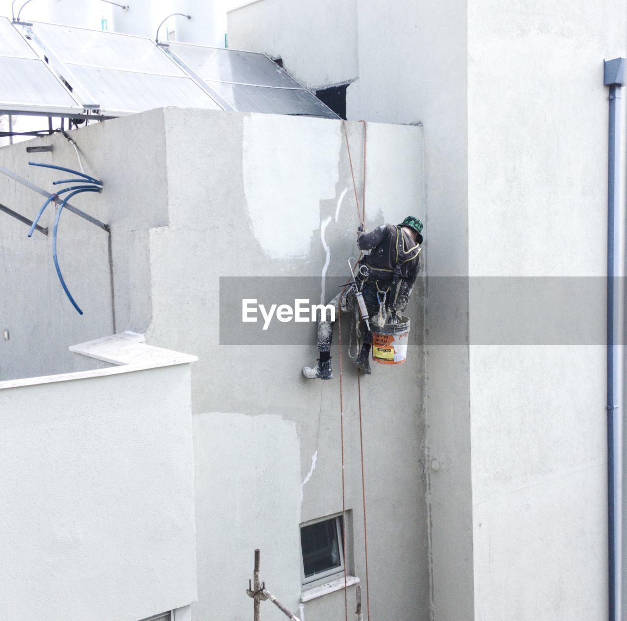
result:
[[[370,318],[375,318],[377,313],[379,317],[391,315],[394,319],[401,315],[418,276],[422,230],[423,223],[414,216],[406,217],[398,225],[382,224],[369,233],[360,226],[357,247],[370,253],[359,261],[355,274],[357,287],[345,288],[330,301],[335,307],[335,316],[340,315],[340,309],[342,313],[356,309],[356,290],[361,290]],[[303,375],[308,379],[330,380],[333,377],[330,355],[333,325],[323,319],[321,316],[318,322],[318,364],[303,368]],[[367,322],[364,323],[364,342],[355,364],[362,373],[370,375],[372,332]]]

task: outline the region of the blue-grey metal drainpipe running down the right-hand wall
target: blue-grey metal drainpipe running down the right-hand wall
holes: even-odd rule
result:
[[[621,209],[621,87],[624,84],[625,59],[604,63],[604,85],[609,86],[608,140],[608,551],[609,551],[609,621],[621,621],[622,604],[622,466],[623,407],[619,402],[618,343],[620,295],[615,278],[620,275]]]

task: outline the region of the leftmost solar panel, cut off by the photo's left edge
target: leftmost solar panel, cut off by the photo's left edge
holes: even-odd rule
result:
[[[0,18],[0,76],[0,112],[84,112],[7,18]]]

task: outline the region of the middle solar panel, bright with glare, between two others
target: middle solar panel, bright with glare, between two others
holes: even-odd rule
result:
[[[99,103],[100,115],[171,105],[221,110],[150,39],[41,22],[31,29],[38,43],[55,57],[63,78]]]

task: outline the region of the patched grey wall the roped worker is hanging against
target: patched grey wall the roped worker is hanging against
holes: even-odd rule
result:
[[[349,124],[348,130],[361,188],[362,126]],[[200,358],[193,375],[193,404],[194,412],[207,422],[196,425],[197,446],[213,446],[216,441],[206,439],[201,430],[208,429],[209,421],[223,419],[224,414],[217,412],[233,414],[231,425],[241,431],[228,436],[236,437],[237,446],[250,438],[247,451],[251,457],[238,460],[238,474],[216,480],[214,472],[197,467],[199,497],[211,498],[217,487],[224,489],[217,494],[220,498],[225,488],[231,488],[233,476],[255,480],[266,469],[264,479],[272,498],[279,494],[270,522],[253,519],[255,514],[249,508],[243,509],[243,515],[250,519],[231,526],[242,547],[233,555],[228,553],[233,542],[221,543],[219,556],[225,559],[225,574],[237,576],[238,583],[245,580],[251,570],[251,553],[258,546],[255,542],[268,540],[277,532],[277,524],[282,526],[291,519],[291,531],[287,524],[283,530],[282,546],[262,549],[271,559],[263,575],[268,588],[277,585],[277,597],[297,611],[300,559],[298,518],[294,516],[300,514],[304,522],[342,509],[339,387],[337,379],[321,385],[300,375],[300,368],[315,358],[313,331],[308,347],[219,347],[219,276],[310,276],[315,277],[319,291],[318,278],[325,263],[321,224],[329,216],[324,231],[330,248],[327,277],[344,276],[346,259],[355,255],[357,216],[342,129],[339,122],[319,119],[166,110],[166,140],[170,226],[150,232],[153,308],[147,335],[157,344],[174,338],[177,348],[187,347]],[[222,148],[207,149],[209,140]],[[421,202],[421,131],[373,124],[368,128],[367,149],[367,226],[401,221],[419,209]],[[189,179],[204,182],[195,185]],[[234,234],[241,249],[238,252],[233,251]],[[426,516],[419,465],[424,431],[419,417],[421,395],[419,387],[400,390],[408,382],[415,385],[414,377],[420,372],[419,350],[411,350],[412,358],[404,367],[376,368],[372,378],[362,382],[369,582],[371,612],[377,617],[425,618],[428,614]],[[337,362],[337,353],[334,360]],[[352,510],[356,541],[352,569],[363,581],[357,387],[349,362],[344,353],[346,507]],[[398,387],[392,389],[392,407],[380,405],[381,382]],[[261,420],[256,422],[255,417]],[[258,447],[251,437],[251,425],[264,425]],[[220,444],[231,446],[228,438]],[[229,451],[240,454],[240,449]],[[271,467],[266,468],[268,451],[273,458]],[[298,461],[286,462],[293,454],[298,454]],[[303,486],[299,511],[301,489],[293,482],[305,481],[315,454],[315,469]],[[277,460],[284,464],[280,480],[273,477]],[[279,493],[275,486],[284,489]],[[265,490],[262,486],[256,493],[265,496]],[[246,497],[245,503],[249,503]],[[258,504],[263,507],[266,503]],[[290,506],[288,511],[286,506]],[[220,545],[214,538],[203,538],[203,533],[215,531],[213,519],[213,513],[205,513],[199,505],[199,524],[206,524],[199,526],[199,548]],[[398,528],[390,529],[391,523]],[[275,540],[275,545],[278,543]],[[393,567],[388,564],[390,558],[394,558]],[[278,568],[279,559],[283,570]],[[199,568],[201,584],[216,579],[214,570],[206,571]],[[289,581],[281,578],[286,573]],[[422,597],[409,595],[416,592]],[[354,601],[352,589],[349,598]],[[337,592],[308,602],[306,617],[334,618],[341,613],[343,600],[343,593]],[[204,618],[201,612],[213,612],[209,616],[215,618],[241,618],[250,602],[236,600],[235,605],[231,601],[228,607],[218,606],[215,600],[199,603],[197,618]]]

